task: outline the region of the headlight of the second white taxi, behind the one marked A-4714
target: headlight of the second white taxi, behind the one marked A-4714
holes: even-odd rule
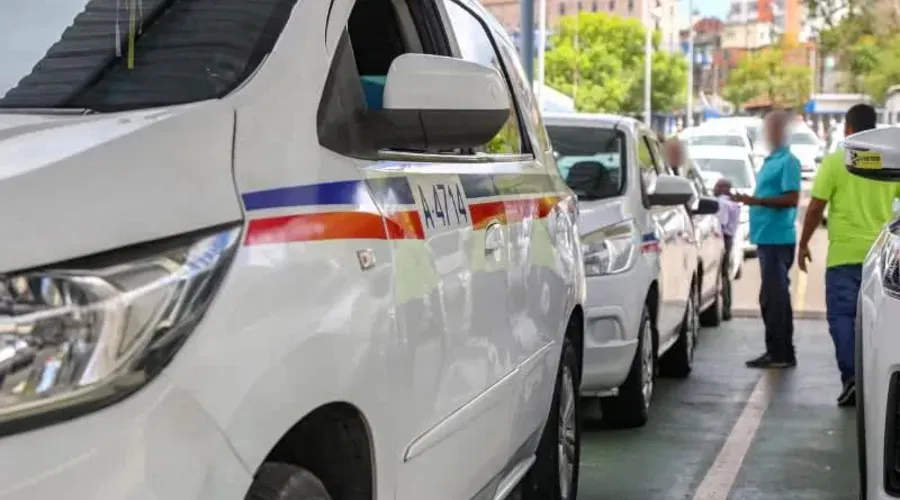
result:
[[[633,220],[598,229],[581,240],[588,276],[623,273],[637,261],[640,234]]]

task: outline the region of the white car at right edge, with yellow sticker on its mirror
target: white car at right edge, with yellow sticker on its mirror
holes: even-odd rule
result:
[[[900,128],[844,140],[847,170],[900,182]],[[900,218],[887,224],[863,264],[856,312],[856,428],[862,500],[900,496]]]

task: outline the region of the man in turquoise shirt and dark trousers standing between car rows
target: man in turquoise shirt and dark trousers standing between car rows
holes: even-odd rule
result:
[[[750,206],[750,241],[756,244],[762,278],[759,309],[766,329],[766,352],[747,361],[749,368],[797,365],[790,271],[797,244],[801,181],[800,161],[787,145],[789,126],[790,118],[783,111],[766,115],[763,132],[771,153],[756,174],[756,191],[753,196],[732,196]]]

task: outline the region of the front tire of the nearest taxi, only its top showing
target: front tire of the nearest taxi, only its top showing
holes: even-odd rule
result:
[[[267,462],[259,468],[244,500],[331,500],[331,496],[308,470]]]

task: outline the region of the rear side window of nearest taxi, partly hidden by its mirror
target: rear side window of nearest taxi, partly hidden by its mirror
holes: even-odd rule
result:
[[[496,68],[508,81],[509,77],[494,48],[487,27],[465,7],[452,0],[447,0],[445,3],[447,14],[450,16],[450,25],[453,27],[453,33],[459,44],[460,56],[467,61]],[[482,152],[489,154],[519,154],[523,152],[522,132],[519,128],[519,117],[515,108],[516,101],[508,84],[506,91],[512,106],[509,119],[500,132],[480,148]]]

